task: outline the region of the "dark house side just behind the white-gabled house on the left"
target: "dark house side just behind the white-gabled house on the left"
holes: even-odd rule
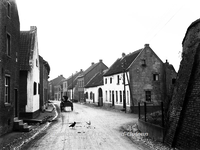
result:
[[[40,59],[40,110],[44,110],[48,103],[48,78],[50,66],[41,56]]]

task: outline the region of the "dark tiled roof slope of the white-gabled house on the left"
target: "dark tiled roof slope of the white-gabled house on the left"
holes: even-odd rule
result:
[[[20,70],[29,70],[29,58],[34,50],[36,40],[36,30],[20,31],[20,52],[19,65]]]

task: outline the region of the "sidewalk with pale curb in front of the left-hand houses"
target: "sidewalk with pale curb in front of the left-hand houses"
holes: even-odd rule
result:
[[[40,116],[36,119],[41,120],[41,124],[33,124],[32,130],[29,132],[11,132],[7,133],[0,137],[0,149],[2,150],[14,150],[20,149],[22,145],[29,142],[33,139],[36,135],[40,132],[45,130],[49,125],[50,122],[57,118],[57,110],[54,104],[48,106],[44,112],[40,113]]]

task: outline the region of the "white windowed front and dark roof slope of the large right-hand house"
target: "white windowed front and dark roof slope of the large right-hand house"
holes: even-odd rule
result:
[[[127,68],[140,52],[141,50],[138,50],[128,55],[122,53],[122,57],[118,58],[104,74],[104,105],[130,111],[130,75]]]

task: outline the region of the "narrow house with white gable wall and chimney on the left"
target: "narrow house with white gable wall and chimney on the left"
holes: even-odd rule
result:
[[[37,28],[20,32],[20,118],[35,118],[39,115],[40,63]]]

